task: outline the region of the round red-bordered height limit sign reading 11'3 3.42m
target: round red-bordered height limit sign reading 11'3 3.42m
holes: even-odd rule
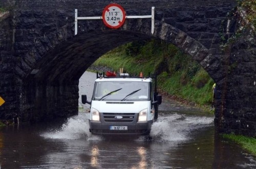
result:
[[[118,4],[110,4],[104,8],[102,19],[105,26],[111,29],[118,29],[125,21],[125,11]]]

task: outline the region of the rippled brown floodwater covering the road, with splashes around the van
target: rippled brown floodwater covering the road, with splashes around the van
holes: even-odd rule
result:
[[[89,100],[92,76],[79,84]],[[256,168],[255,158],[219,137],[214,117],[196,108],[163,99],[148,140],[91,135],[83,106],[64,122],[2,128],[0,168]]]

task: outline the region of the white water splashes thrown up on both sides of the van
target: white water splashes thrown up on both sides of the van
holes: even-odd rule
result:
[[[92,135],[89,132],[89,113],[79,113],[68,119],[58,130],[41,134],[51,139],[81,139],[103,140],[104,137]],[[161,114],[158,121],[153,123],[150,136],[154,141],[180,142],[188,140],[190,132],[206,126],[212,126],[210,117],[185,116],[183,114]],[[144,140],[140,137],[138,140]]]

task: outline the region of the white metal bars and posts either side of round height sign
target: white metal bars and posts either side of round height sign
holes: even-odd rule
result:
[[[135,18],[151,18],[151,33],[154,34],[155,30],[155,7],[152,7],[151,15],[138,15],[138,16],[125,16],[127,19]],[[102,19],[102,16],[88,16],[88,17],[77,17],[77,9],[75,9],[75,35],[77,35],[77,21],[78,20],[89,20],[89,19]]]

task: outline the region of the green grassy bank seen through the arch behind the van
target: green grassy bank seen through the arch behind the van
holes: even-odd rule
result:
[[[176,46],[161,40],[127,43],[99,58],[95,66],[112,67],[139,75],[156,72],[162,92],[183,99],[198,107],[207,107],[212,101],[214,81],[190,56]]]

